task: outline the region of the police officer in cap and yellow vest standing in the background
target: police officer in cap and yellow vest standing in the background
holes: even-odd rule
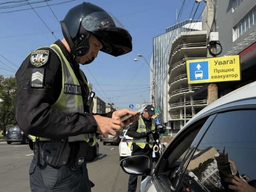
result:
[[[127,130],[127,135],[132,139],[132,156],[145,155],[149,157],[149,168],[152,168],[153,140],[159,139],[159,133],[154,133],[156,123],[152,116],[155,115],[155,108],[147,105],[140,115],[139,121],[134,122]],[[144,180],[146,176],[142,176]],[[128,192],[135,192],[137,188],[137,175],[130,175]]]

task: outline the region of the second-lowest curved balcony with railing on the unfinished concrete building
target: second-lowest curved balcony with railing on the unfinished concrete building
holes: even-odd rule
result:
[[[186,103],[184,103],[184,102],[173,103],[170,106],[169,112],[173,112],[178,109],[184,109],[184,104],[186,106],[186,109],[191,109],[192,106],[195,109],[203,109],[208,105],[208,102],[207,102],[207,100],[196,100],[196,101],[186,101]]]

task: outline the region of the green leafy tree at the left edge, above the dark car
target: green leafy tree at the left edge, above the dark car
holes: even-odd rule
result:
[[[16,78],[0,76],[0,127],[4,136],[7,125],[16,124],[14,119],[14,98],[16,93]]]

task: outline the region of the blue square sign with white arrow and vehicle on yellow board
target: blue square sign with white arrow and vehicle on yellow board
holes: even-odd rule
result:
[[[209,61],[188,63],[189,81],[209,80]]]

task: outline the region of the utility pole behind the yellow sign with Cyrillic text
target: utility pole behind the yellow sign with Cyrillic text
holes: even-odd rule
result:
[[[206,11],[206,18],[202,16],[202,28],[203,30],[207,31],[207,37],[208,37],[208,43],[210,43],[210,32],[216,31],[216,24],[214,21],[215,17],[215,0],[196,0],[196,2],[206,2],[206,10],[204,9],[204,12]],[[202,14],[204,15],[204,14]],[[216,54],[216,44],[212,45],[211,52]],[[209,49],[207,49],[207,58],[213,57]],[[210,105],[213,101],[218,99],[218,86],[215,83],[208,84],[208,105]]]

